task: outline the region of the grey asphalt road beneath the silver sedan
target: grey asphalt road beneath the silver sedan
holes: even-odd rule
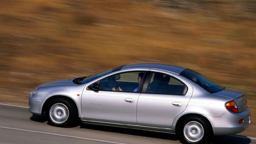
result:
[[[176,135],[81,123],[71,128],[48,124],[27,107],[0,104],[0,144],[179,144]],[[246,136],[215,136],[213,144],[255,143]]]

